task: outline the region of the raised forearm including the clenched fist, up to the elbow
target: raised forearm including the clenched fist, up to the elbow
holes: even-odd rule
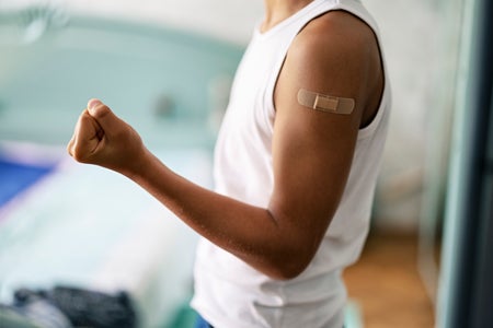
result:
[[[284,216],[274,218],[276,211],[215,194],[174,174],[98,99],[91,99],[79,117],[67,150],[81,163],[129,177],[200,235],[265,274],[289,277],[308,262],[309,256],[298,247],[306,243],[294,233],[305,230],[294,229]]]

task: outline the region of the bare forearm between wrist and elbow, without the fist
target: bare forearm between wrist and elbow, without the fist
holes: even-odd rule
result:
[[[299,273],[299,266],[295,263],[296,268],[291,268],[290,260],[299,258],[293,251],[302,247],[289,243],[288,227],[270,209],[195,185],[169,169],[149,151],[136,167],[137,171],[124,174],[202,236],[273,278]]]

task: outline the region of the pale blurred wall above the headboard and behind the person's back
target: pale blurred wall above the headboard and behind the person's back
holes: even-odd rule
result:
[[[0,0],[0,11],[32,2],[57,4],[68,13],[177,26],[239,45],[248,43],[253,25],[263,13],[262,0]],[[375,224],[416,230],[423,216],[424,192],[427,188],[434,190],[432,198],[437,200],[427,207],[436,208],[447,166],[444,159],[448,157],[451,104],[446,99],[448,94],[444,87],[452,87],[454,79],[449,78],[454,77],[449,72],[454,56],[447,57],[444,51],[455,51],[454,45],[450,49],[443,48],[443,36],[449,35],[444,31],[447,3],[439,0],[363,2],[380,24],[393,89],[393,114],[377,194]],[[444,59],[447,59],[445,67]],[[431,154],[435,159],[429,160]],[[435,187],[425,180],[429,180],[431,175]],[[426,199],[431,199],[428,196]]]

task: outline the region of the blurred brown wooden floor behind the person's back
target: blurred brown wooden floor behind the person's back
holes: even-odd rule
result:
[[[370,235],[344,279],[365,328],[434,327],[433,305],[416,270],[415,236]]]

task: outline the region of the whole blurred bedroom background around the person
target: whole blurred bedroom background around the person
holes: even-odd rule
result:
[[[454,300],[492,304],[478,292],[491,268],[491,4],[363,2],[380,25],[393,113],[372,230],[344,276],[347,327],[475,327],[488,311]],[[0,0],[0,303],[78,300],[140,327],[191,327],[194,233],[65,144],[100,97],[210,187],[231,79],[262,16],[261,0]]]

